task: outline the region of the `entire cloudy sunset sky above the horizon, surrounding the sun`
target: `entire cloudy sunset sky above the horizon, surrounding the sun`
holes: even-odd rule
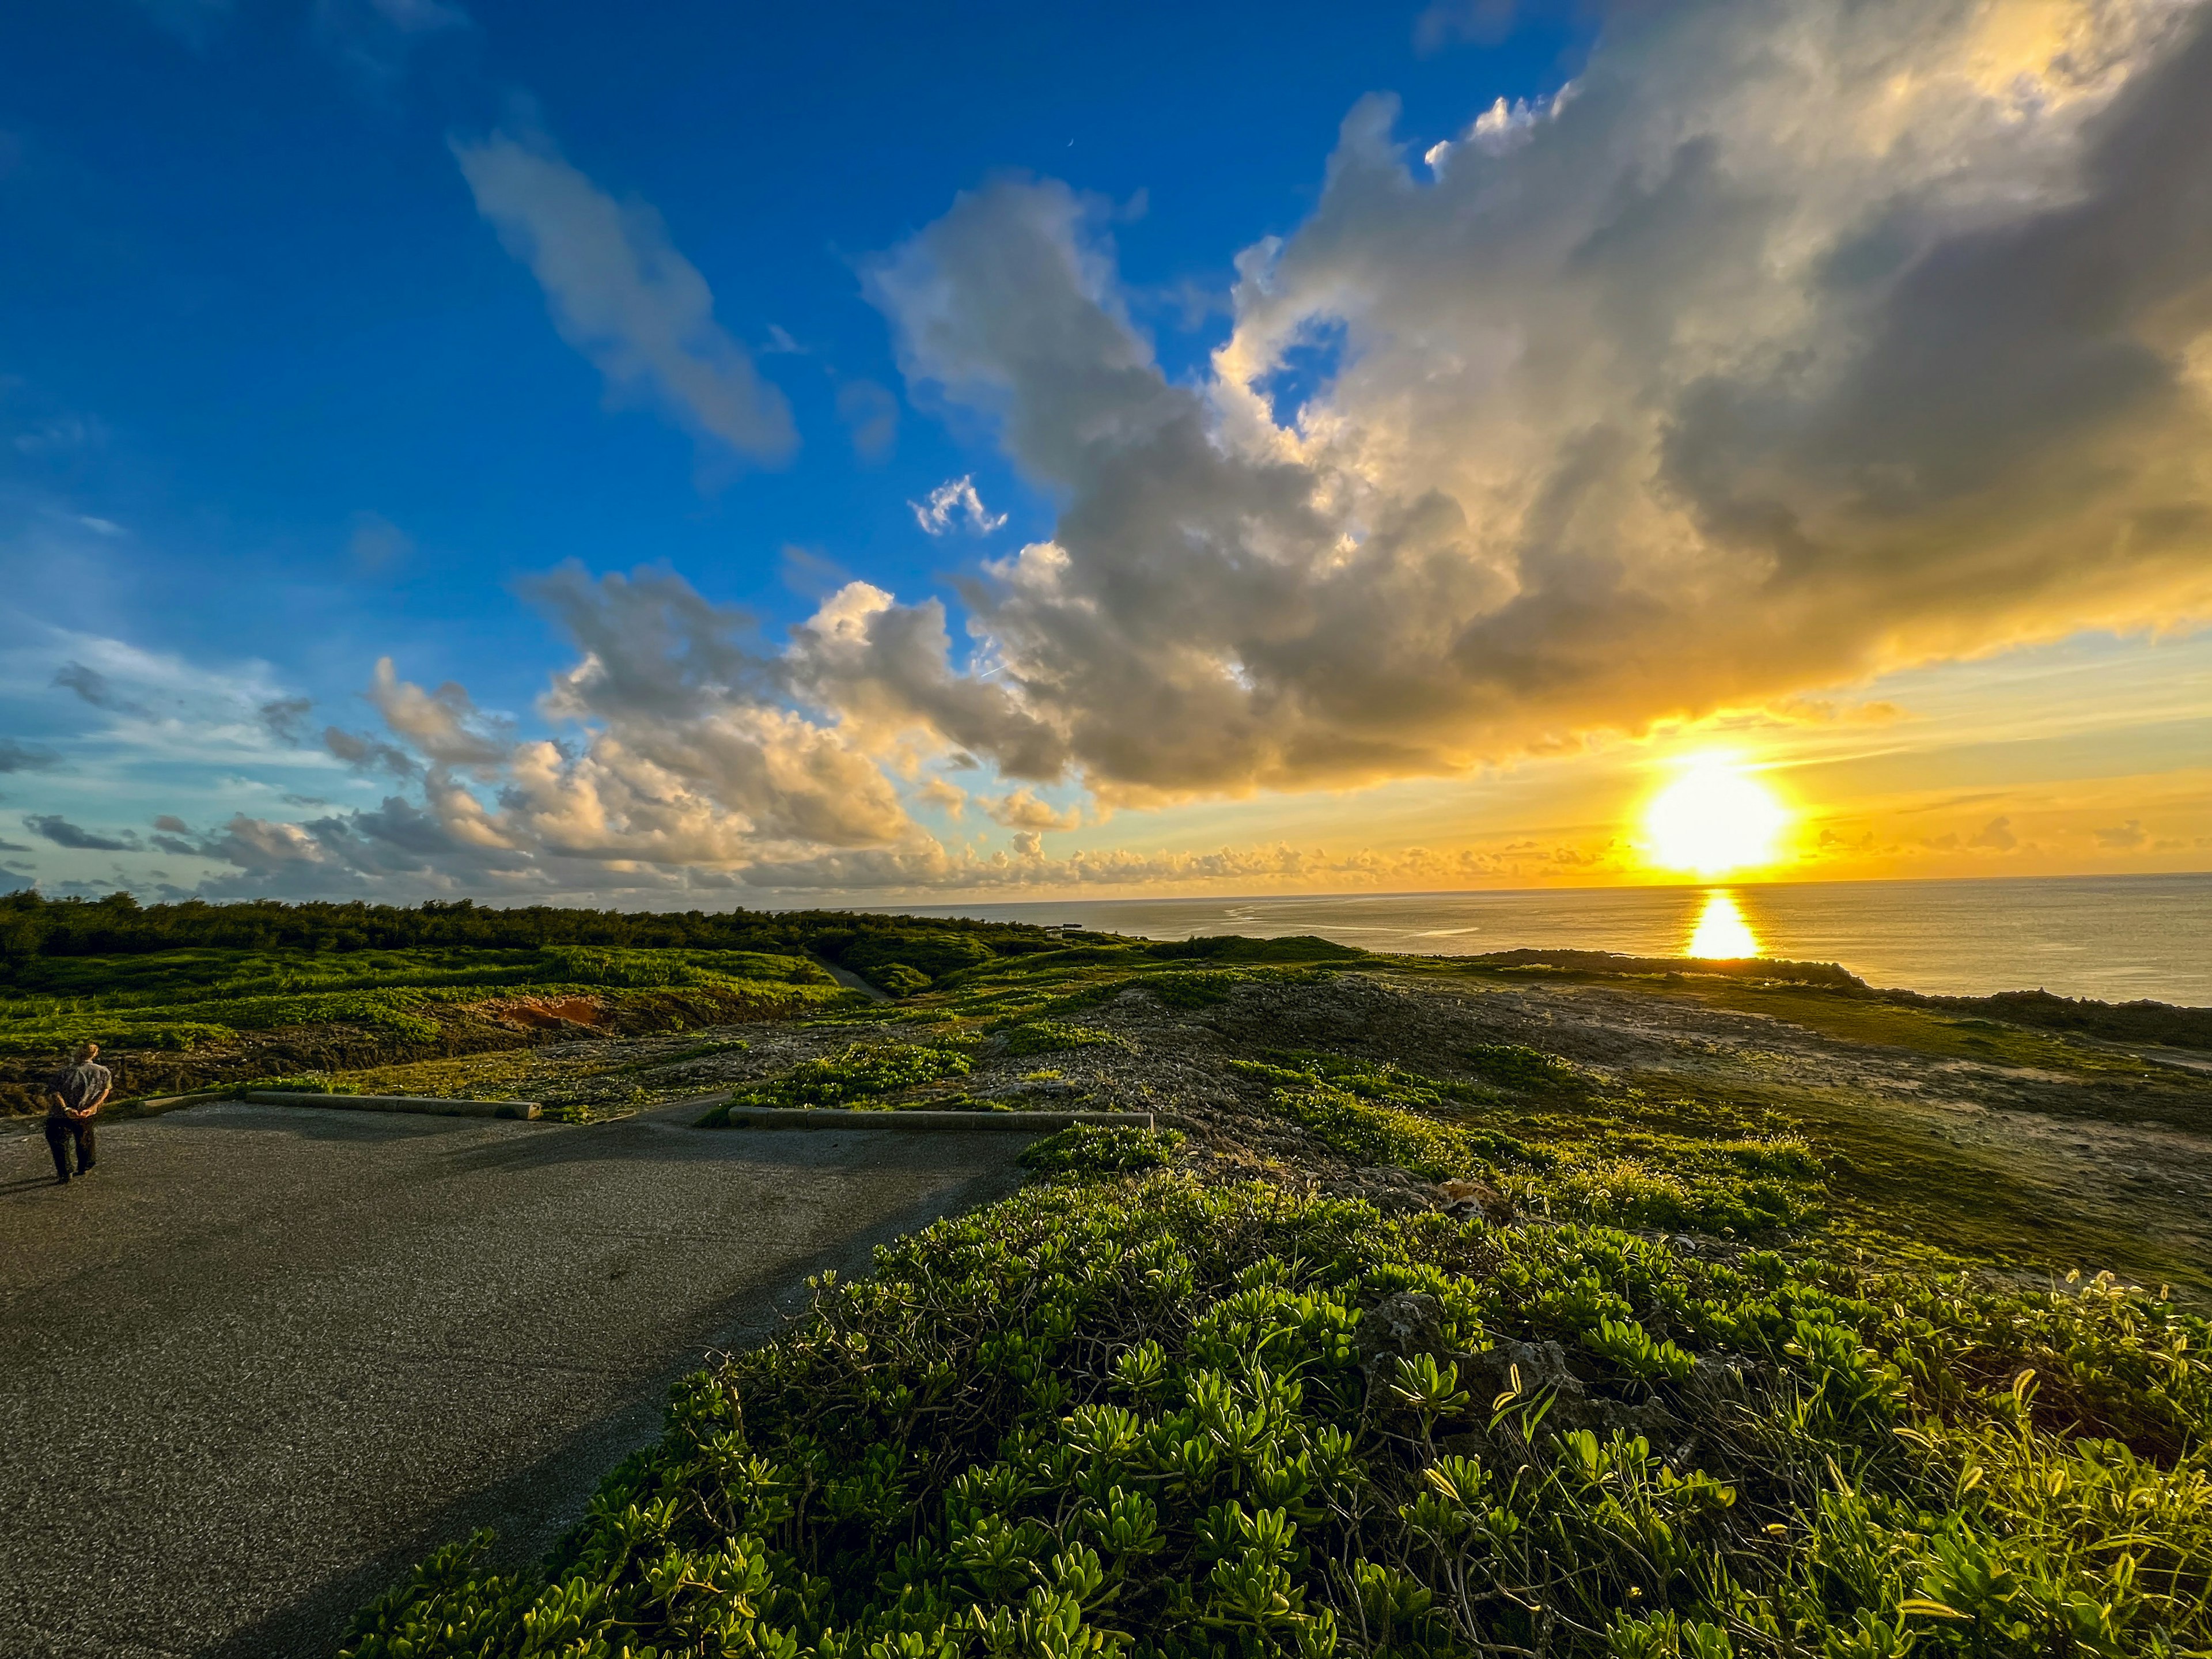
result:
[[[0,42],[0,887],[2212,869],[2203,4]]]

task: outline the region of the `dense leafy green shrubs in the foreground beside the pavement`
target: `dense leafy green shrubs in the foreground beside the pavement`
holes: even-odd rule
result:
[[[2104,1281],[1055,1183],[821,1281],[544,1566],[442,1551],[345,1652],[2192,1655],[2208,1338]]]

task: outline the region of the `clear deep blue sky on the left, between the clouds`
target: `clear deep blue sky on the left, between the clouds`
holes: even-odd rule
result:
[[[40,613],[82,597],[102,630],[263,657],[319,699],[394,653],[507,708],[555,661],[509,584],[568,557],[668,560],[768,622],[807,608],[785,546],[927,584],[982,546],[922,535],[909,500],[971,473],[1011,515],[1000,544],[1051,504],[973,422],[905,400],[854,263],[993,173],[1060,177],[1121,204],[1126,279],[1188,369],[1225,330],[1230,254],[1310,210],[1360,93],[1400,91],[1442,137],[1564,75],[1564,29],[1425,55],[1416,13],[473,4],[409,35],[369,0],[38,9],[0,62],[0,341],[7,425],[49,440],[7,453],[9,511],[124,535],[80,540],[106,580],[40,555],[9,577]],[[449,148],[518,108],[659,210],[790,398],[787,465],[606,407]],[[898,396],[880,458],[838,416],[856,380]],[[66,730],[66,708],[11,710],[27,734],[42,714]]]

